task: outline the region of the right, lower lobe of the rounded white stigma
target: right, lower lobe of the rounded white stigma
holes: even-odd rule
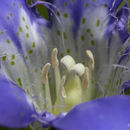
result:
[[[85,72],[85,67],[81,63],[75,64],[70,68],[70,73],[74,73],[79,76],[82,76],[84,72]]]

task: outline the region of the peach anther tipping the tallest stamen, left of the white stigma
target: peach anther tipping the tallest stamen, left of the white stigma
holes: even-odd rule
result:
[[[59,61],[57,59],[57,54],[58,54],[58,50],[57,48],[54,48],[51,54],[51,62],[52,62],[52,67],[55,68],[57,66],[59,66]]]

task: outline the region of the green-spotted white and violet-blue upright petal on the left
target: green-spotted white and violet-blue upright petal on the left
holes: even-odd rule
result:
[[[46,62],[47,48],[37,17],[25,1],[1,1],[1,68],[3,73],[31,96],[39,95],[40,99],[37,103],[40,104],[41,97],[44,96],[40,73],[41,67]]]

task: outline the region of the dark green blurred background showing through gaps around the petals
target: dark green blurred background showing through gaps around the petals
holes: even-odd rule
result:
[[[46,1],[46,0],[43,0]],[[130,0],[127,0],[129,7],[130,7]],[[31,0],[28,0],[28,2],[31,4]],[[121,8],[124,5],[124,2],[121,4],[121,6],[119,8]],[[49,15],[48,15],[48,10],[45,6],[43,5],[38,5],[37,6],[37,10],[40,12],[41,16],[47,20],[49,20]],[[130,21],[130,19],[129,19]],[[129,26],[130,26],[130,22],[129,22]],[[130,30],[130,28],[129,28]],[[130,89],[126,92],[126,94],[130,94]],[[32,130],[30,127],[28,128],[20,128],[20,129],[10,129],[10,128],[3,128],[0,127],[0,130]],[[54,130],[54,128],[50,128],[50,130]]]

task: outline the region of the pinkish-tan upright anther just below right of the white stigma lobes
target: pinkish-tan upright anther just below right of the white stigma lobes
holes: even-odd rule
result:
[[[89,86],[89,69],[88,67],[85,68],[84,77],[83,77],[83,90],[88,88]]]

